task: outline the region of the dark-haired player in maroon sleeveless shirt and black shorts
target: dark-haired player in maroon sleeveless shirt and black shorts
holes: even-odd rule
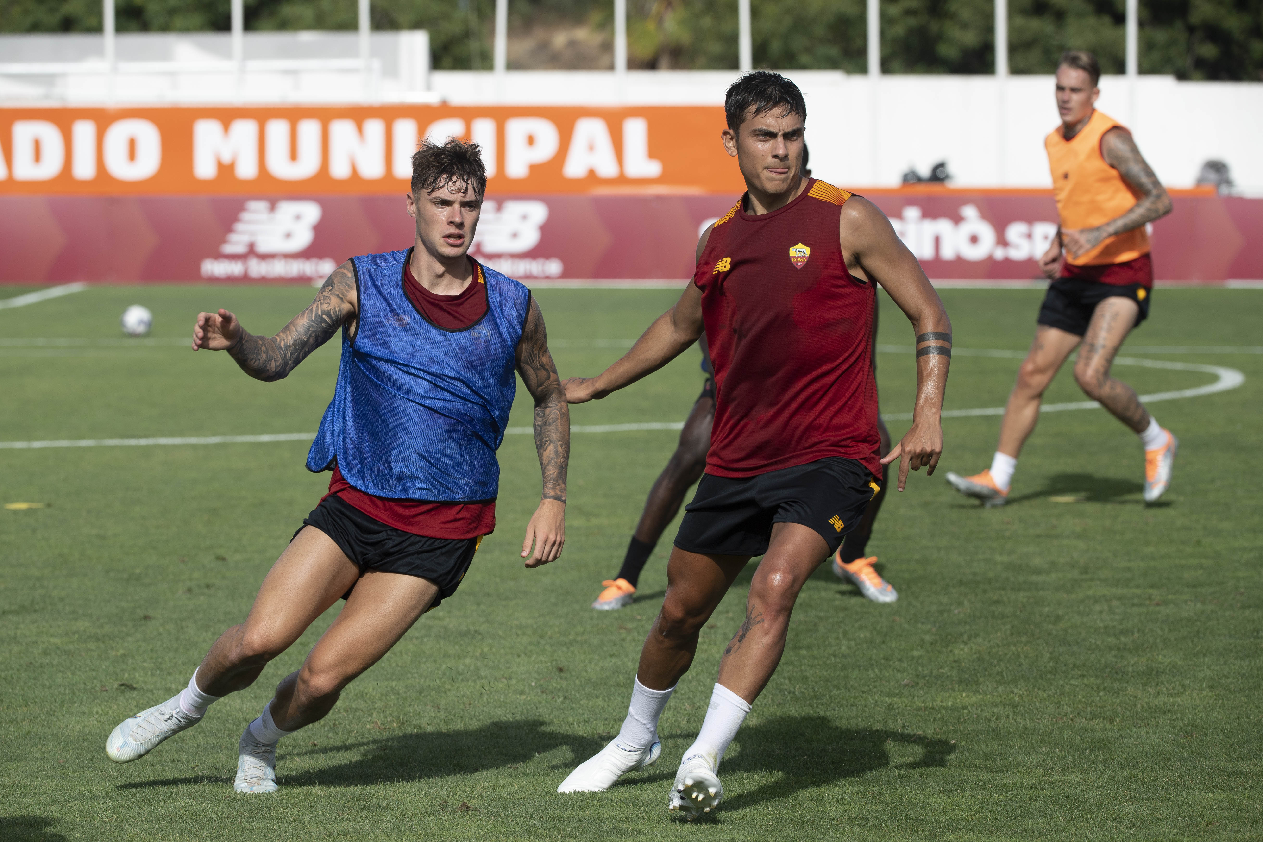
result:
[[[604,398],[661,369],[705,328],[716,401],[706,473],[667,566],[668,587],[640,651],[619,735],[558,792],[600,792],[657,760],[657,722],[688,670],[697,635],[754,555],[745,621],[720,661],[697,741],[685,751],[669,808],[693,818],[719,804],[724,751],[784,651],[798,591],[854,529],[902,460],[932,473],[951,322],[916,258],[873,203],[802,178],[806,105],[789,80],[743,76],[727,91],[729,155],[746,193],[697,244],[679,302],[596,377],[565,381],[571,403]],[[916,337],[912,428],[878,457],[873,302],[882,284]]]

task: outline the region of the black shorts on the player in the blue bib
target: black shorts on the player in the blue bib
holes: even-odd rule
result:
[[[346,502],[337,495],[321,500],[316,510],[303,519],[303,526],[314,526],[333,539],[346,557],[369,571],[405,573],[429,579],[438,586],[431,610],[456,593],[470,569],[481,538],[427,538],[388,526],[380,520]],[[299,528],[298,531],[302,531]],[[294,538],[298,533],[294,533]],[[355,586],[351,586],[355,590]],[[342,595],[345,600],[351,595]]]

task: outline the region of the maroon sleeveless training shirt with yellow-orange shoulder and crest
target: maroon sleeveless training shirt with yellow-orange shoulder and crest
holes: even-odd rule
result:
[[[751,216],[741,197],[711,230],[693,283],[715,366],[706,472],[746,477],[830,456],[882,475],[873,372],[874,285],[839,242],[851,197],[811,179]]]

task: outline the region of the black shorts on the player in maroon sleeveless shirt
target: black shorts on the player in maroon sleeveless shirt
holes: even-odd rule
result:
[[[702,475],[676,535],[676,547],[707,555],[763,555],[772,525],[802,524],[835,553],[880,490],[855,460],[829,457],[753,477]]]

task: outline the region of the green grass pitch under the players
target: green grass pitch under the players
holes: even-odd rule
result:
[[[1041,294],[945,290],[957,347],[1023,350]],[[892,494],[870,552],[899,601],[870,603],[825,568],[808,582],[781,669],[720,770],[726,800],[696,826],[668,819],[667,788],[753,566],[702,632],[662,720],[659,764],[604,794],[554,793],[625,713],[674,526],[634,606],[587,606],[618,569],[676,433],[576,433],[568,542],[538,571],[517,549],[539,470],[530,437],[506,437],[499,526],[457,596],[327,720],[282,742],[280,792],[265,797],[231,790],[237,736],[332,612],[254,687],[148,757],[115,765],[104,744],[120,720],[178,691],[244,619],[326,487],[303,468],[307,443],[0,449],[0,500],[48,504],[0,509],[0,838],[1257,839],[1263,355],[1243,351],[1260,343],[1260,295],[1159,289],[1124,348],[1245,375],[1231,391],[1153,404],[1181,438],[1161,505],[1140,501],[1135,436],[1099,409],[1042,417],[1007,507],[970,504],[942,473]],[[3,309],[0,439],[314,430],[335,347],[260,384],[179,343],[198,309],[229,307],[270,332],[309,298],[293,287],[95,287]],[[596,374],[673,298],[539,290],[562,376]],[[133,303],[154,312],[148,340],[119,332]],[[883,298],[880,342],[911,340]],[[575,408],[572,423],[682,420],[701,386],[697,361],[688,351]],[[957,355],[947,408],[1003,405],[1015,367]],[[1214,380],[1116,372],[1142,394]],[[908,412],[912,355],[880,353],[879,376],[883,409]],[[1068,371],[1048,400],[1082,400]],[[529,414],[519,390],[512,423]],[[945,420],[940,471],[985,467],[998,422]]]

